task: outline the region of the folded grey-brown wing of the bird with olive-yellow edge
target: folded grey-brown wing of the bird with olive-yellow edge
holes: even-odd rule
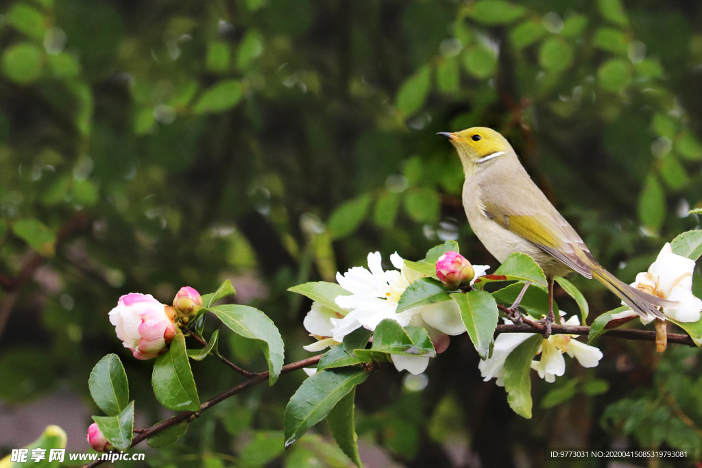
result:
[[[522,178],[522,174],[515,174]],[[590,250],[526,172],[524,182],[500,178],[481,187],[484,213],[586,278],[592,278]],[[512,180],[510,180],[512,179]],[[517,188],[518,187],[518,188]],[[517,203],[515,203],[517,201]]]

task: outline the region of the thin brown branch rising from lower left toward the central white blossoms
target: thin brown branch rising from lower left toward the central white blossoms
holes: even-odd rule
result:
[[[319,359],[322,358],[322,354],[318,354],[317,356],[312,356],[311,358],[303,359],[302,361],[297,361],[293,362],[290,364],[287,364],[286,366],[283,366],[282,370],[280,371],[281,375],[290,373],[293,370],[298,370],[303,367],[308,367],[308,366],[313,366],[314,364],[319,362]],[[261,382],[265,382],[268,380],[268,372],[261,372],[257,373],[253,377],[250,377],[248,380],[245,380],[244,382],[241,382],[239,385],[234,385],[234,387],[228,389],[226,392],[220,393],[217,396],[213,396],[211,399],[208,399],[204,403],[200,405],[200,409],[197,411],[184,411],[183,413],[179,413],[175,416],[169,417],[167,420],[163,420],[157,424],[154,424],[151,427],[147,427],[146,429],[142,429],[135,437],[132,439],[132,443],[129,446],[129,448],[132,448],[133,446],[137,445],[140,442],[143,442],[145,439],[148,439],[150,436],[157,434],[158,432],[161,432],[164,429],[167,429],[168,427],[175,426],[179,422],[184,422],[184,421],[192,421],[196,417],[200,415],[204,410],[207,410],[208,408],[212,408],[215,406],[217,403],[221,403],[222,401],[225,401],[227,398],[230,398],[230,396],[234,396],[237,393],[249,388],[253,387],[254,385],[260,384]],[[85,464],[83,468],[93,468],[97,467],[98,465],[106,462],[107,460],[95,460],[94,462]]]

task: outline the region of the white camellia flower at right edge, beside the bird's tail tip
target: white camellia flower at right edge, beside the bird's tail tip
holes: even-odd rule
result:
[[[696,322],[700,319],[702,300],[692,294],[692,272],[695,261],[673,253],[670,243],[665,243],[656,261],[651,263],[648,272],[636,275],[631,286],[644,293],[649,293],[676,302],[673,307],[663,307],[663,315],[679,322]],[[633,311],[613,314],[611,318],[623,319],[636,316]],[[641,319],[644,323],[650,321]]]

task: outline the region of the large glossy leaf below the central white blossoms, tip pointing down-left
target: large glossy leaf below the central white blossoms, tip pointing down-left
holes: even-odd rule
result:
[[[307,378],[285,408],[286,448],[323,420],[336,403],[367,377],[362,369],[343,368],[322,370]]]

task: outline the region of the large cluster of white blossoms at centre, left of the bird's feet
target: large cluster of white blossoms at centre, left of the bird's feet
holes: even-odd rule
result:
[[[404,264],[402,257],[394,253],[390,262],[396,269],[383,270],[379,252],[368,254],[368,268],[353,267],[345,274],[336,274],[336,281],[350,295],[336,297],[336,305],[348,311],[338,314],[329,307],[314,302],[305,316],[303,325],[318,342],[305,347],[307,351],[320,351],[339,345],[344,337],[357,328],[375,330],[380,321],[391,319],[402,326],[425,328],[437,353],[449,346],[449,335],[465,333],[465,326],[456,302],[413,307],[397,314],[397,302],[412,281],[425,276]],[[483,276],[489,267],[473,265],[475,277]],[[429,363],[428,356],[391,354],[397,370],[409,370],[417,375],[423,373]]]

